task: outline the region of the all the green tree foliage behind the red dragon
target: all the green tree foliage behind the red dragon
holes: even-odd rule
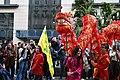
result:
[[[82,17],[86,14],[91,14],[96,16],[98,20],[99,32],[101,28],[107,27],[112,23],[113,20],[120,20],[120,10],[116,10],[116,6],[110,3],[102,3],[99,7],[100,13],[98,15],[97,10],[93,7],[93,0],[75,0],[75,4],[72,7],[72,11],[75,12],[74,17],[77,17],[77,26],[75,28],[75,33],[77,37],[81,33],[82,28]]]

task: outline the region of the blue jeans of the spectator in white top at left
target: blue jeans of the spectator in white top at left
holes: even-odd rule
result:
[[[26,80],[27,70],[28,70],[28,61],[23,60],[21,63],[19,63],[19,69],[16,80]]]

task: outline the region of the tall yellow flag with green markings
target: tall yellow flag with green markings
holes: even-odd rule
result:
[[[53,68],[53,62],[52,62],[52,57],[51,57],[51,53],[50,53],[49,43],[48,43],[46,26],[45,26],[45,28],[42,32],[42,35],[40,37],[38,45],[41,46],[42,51],[47,56],[47,62],[48,62],[48,65],[49,65],[49,70],[50,70],[51,76],[53,76],[54,75],[54,68]]]

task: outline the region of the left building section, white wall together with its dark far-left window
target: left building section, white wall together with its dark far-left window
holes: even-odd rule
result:
[[[16,30],[28,30],[29,0],[0,0],[0,39],[20,39]]]

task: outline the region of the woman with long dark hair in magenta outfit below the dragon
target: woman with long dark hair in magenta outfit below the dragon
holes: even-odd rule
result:
[[[83,60],[80,46],[76,46],[72,56],[68,57],[65,66],[68,69],[67,80],[81,80]]]

